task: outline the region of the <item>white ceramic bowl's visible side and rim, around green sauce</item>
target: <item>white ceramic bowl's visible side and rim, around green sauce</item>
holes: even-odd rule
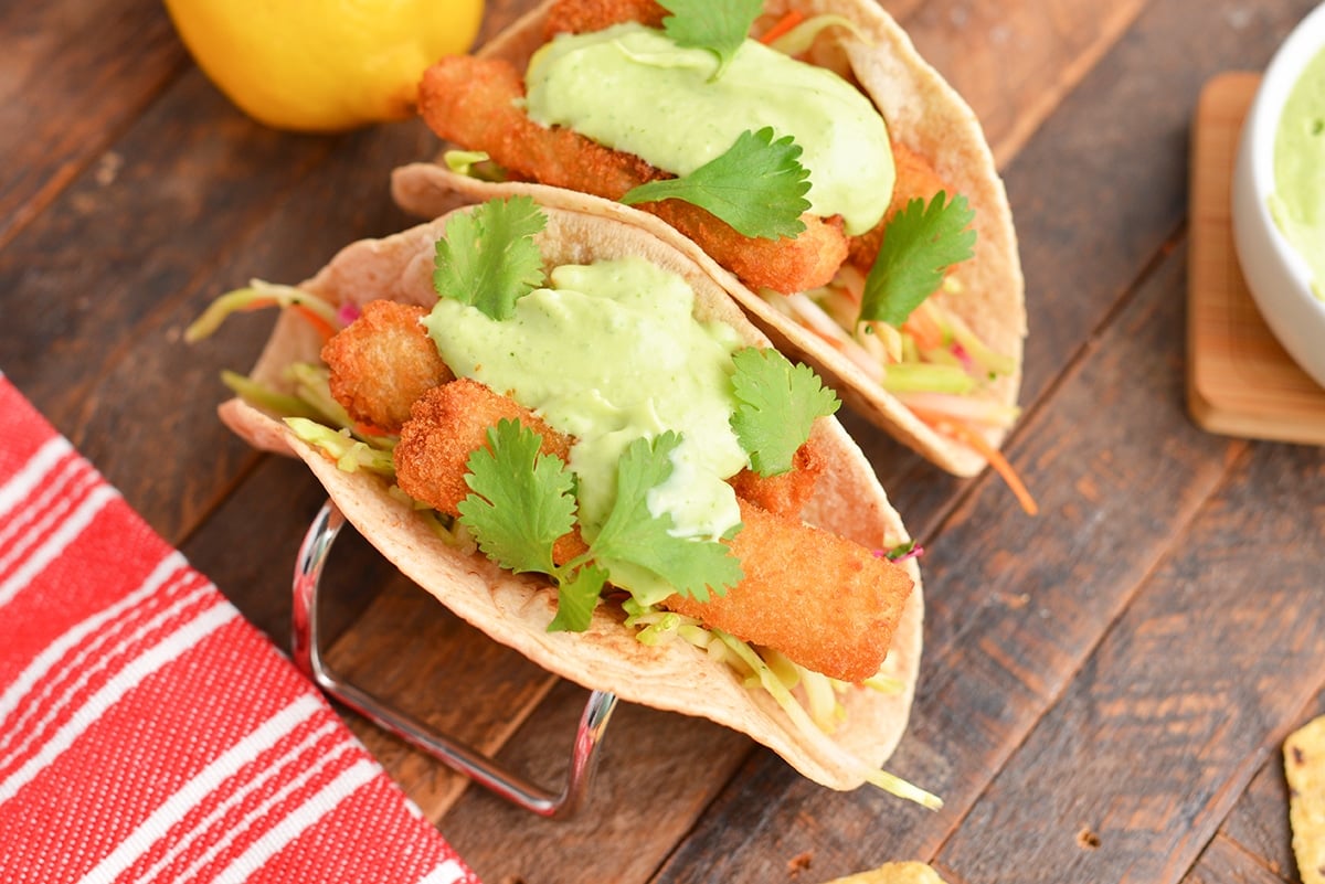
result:
[[[1312,292],[1306,261],[1269,214],[1280,111],[1302,67],[1322,49],[1325,4],[1288,34],[1256,90],[1234,167],[1232,226],[1238,262],[1261,316],[1288,355],[1325,386],[1325,300]],[[1320,285],[1325,291],[1325,279]]]

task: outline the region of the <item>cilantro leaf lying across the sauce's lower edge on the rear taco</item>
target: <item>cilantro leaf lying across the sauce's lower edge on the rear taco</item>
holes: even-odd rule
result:
[[[806,229],[810,172],[799,161],[800,146],[790,135],[772,139],[772,128],[749,130],[725,154],[678,179],[632,188],[621,202],[685,200],[712,212],[747,237],[776,240]]]

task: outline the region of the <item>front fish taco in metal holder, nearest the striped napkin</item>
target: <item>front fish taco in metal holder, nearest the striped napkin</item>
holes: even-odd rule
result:
[[[301,457],[454,614],[591,689],[704,716],[833,789],[906,725],[920,570],[871,464],[690,255],[494,200],[343,249],[284,307],[224,422]]]

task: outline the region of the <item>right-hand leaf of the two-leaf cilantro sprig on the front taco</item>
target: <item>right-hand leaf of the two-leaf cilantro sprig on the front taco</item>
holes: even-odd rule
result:
[[[649,439],[636,439],[627,446],[616,466],[616,503],[598,537],[592,552],[599,561],[625,561],[647,568],[684,596],[701,602],[709,592],[718,596],[737,585],[743,576],[741,562],[721,543],[673,537],[672,516],[655,517],[647,495],[672,475],[673,449],[681,437],[666,431]]]

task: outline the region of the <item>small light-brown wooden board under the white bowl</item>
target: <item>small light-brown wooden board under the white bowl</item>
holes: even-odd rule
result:
[[[1325,388],[1261,319],[1234,251],[1230,192],[1238,138],[1260,74],[1226,73],[1200,94],[1191,156],[1187,408],[1227,435],[1325,445]]]

